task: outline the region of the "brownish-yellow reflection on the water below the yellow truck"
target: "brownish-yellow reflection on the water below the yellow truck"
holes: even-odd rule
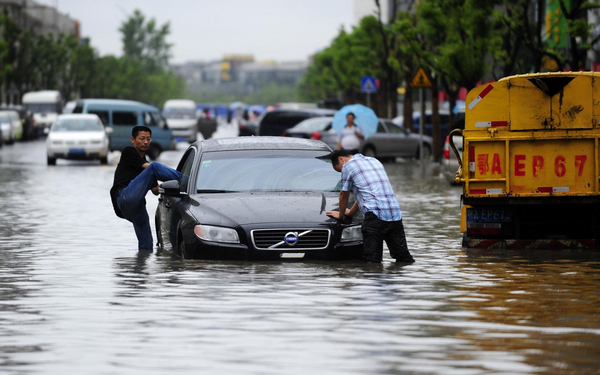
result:
[[[461,336],[478,346],[479,356],[503,353],[499,362],[512,357],[513,365],[520,364],[519,371],[562,372],[568,367],[579,372],[597,367],[597,252],[469,249],[467,255],[460,267],[472,282],[462,286],[465,296],[458,303],[477,314]],[[573,362],[565,366],[565,358]]]

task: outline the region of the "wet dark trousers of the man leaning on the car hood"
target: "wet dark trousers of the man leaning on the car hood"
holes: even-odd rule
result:
[[[398,262],[414,262],[408,251],[402,220],[384,221],[374,213],[367,212],[362,224],[363,258],[366,262],[381,263],[383,241],[390,249],[390,256]]]

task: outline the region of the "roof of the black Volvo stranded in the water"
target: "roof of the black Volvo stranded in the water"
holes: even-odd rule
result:
[[[238,137],[197,141],[203,152],[228,150],[314,150],[330,151],[321,141],[287,137]]]

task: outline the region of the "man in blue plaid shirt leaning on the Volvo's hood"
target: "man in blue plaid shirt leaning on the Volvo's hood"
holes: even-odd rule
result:
[[[381,263],[385,241],[396,262],[413,263],[406,244],[400,204],[379,160],[336,150],[331,153],[331,163],[333,169],[342,173],[342,184],[339,211],[328,211],[327,215],[343,220],[360,209],[365,217],[361,228],[365,262]],[[350,190],[356,202],[352,208],[347,208]]]

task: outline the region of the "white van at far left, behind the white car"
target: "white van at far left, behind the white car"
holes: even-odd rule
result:
[[[48,134],[62,112],[62,97],[54,90],[32,91],[23,95],[23,105],[33,113],[38,128]]]

